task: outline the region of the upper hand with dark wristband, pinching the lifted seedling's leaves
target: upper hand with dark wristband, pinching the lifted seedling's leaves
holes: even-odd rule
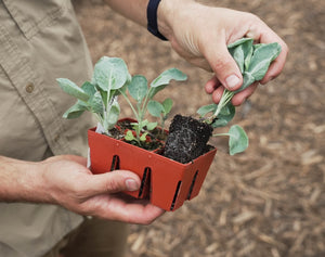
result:
[[[187,62],[212,70],[214,76],[205,90],[218,103],[223,89],[237,90],[243,77],[226,46],[243,37],[256,42],[278,42],[282,52],[272,63],[264,78],[266,83],[278,76],[284,67],[288,48],[286,43],[259,17],[245,12],[223,8],[206,7],[194,1],[162,0],[158,9],[160,33],[169,39],[172,48]],[[239,105],[251,95],[258,82],[251,85],[232,99]]]

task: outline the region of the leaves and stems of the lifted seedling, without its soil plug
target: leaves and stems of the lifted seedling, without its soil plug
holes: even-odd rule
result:
[[[200,107],[197,113],[205,123],[210,124],[213,128],[223,127],[233,119],[235,107],[231,104],[231,100],[235,93],[243,91],[252,82],[261,80],[266,74],[270,64],[281,52],[281,46],[274,43],[253,44],[253,39],[243,38],[227,46],[227,49],[236,61],[242,74],[243,85],[236,91],[224,89],[219,104],[210,104]],[[212,113],[210,117],[204,118],[208,113]],[[248,138],[246,132],[238,125],[230,128],[227,133],[217,133],[218,136],[229,136],[230,154],[244,152],[248,146]]]

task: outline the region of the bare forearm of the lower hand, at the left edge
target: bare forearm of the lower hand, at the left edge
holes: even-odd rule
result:
[[[0,202],[48,202],[38,163],[0,156]]]

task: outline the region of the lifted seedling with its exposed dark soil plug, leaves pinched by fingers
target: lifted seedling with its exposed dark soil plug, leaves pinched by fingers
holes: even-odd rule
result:
[[[278,43],[253,44],[252,39],[243,38],[227,48],[243,74],[243,86],[237,91],[224,89],[219,104],[200,107],[197,111],[199,120],[192,117],[176,117],[171,123],[165,146],[167,157],[183,163],[195,159],[207,152],[209,138],[219,136],[229,137],[231,155],[244,152],[248,147],[248,137],[238,125],[232,126],[226,133],[212,134],[212,131],[218,127],[226,126],[233,119],[235,116],[235,107],[231,103],[233,95],[264,77],[270,64],[280,54],[281,46]],[[207,116],[209,113],[211,115]]]

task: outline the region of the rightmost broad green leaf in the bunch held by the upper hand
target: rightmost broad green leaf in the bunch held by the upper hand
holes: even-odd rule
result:
[[[259,46],[252,54],[247,73],[250,73],[256,80],[261,80],[280,52],[281,46],[277,42]]]

